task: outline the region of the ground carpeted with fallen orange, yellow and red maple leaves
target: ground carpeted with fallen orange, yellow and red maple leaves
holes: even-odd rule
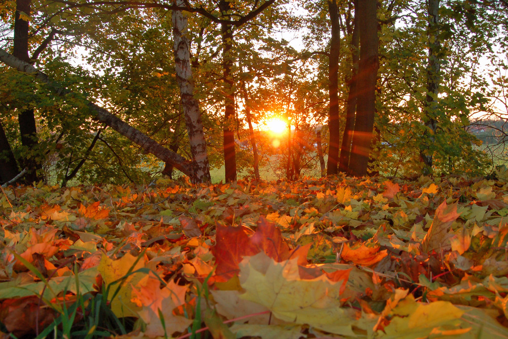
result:
[[[11,336],[508,337],[502,181],[9,187],[0,211]]]

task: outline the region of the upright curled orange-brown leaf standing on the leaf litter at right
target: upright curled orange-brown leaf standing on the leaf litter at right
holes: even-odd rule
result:
[[[437,207],[432,225],[425,235],[422,242],[422,250],[425,253],[431,251],[439,252],[443,248],[449,248],[449,239],[453,234],[449,234],[449,229],[452,223],[460,216],[457,213],[457,204],[447,205],[443,201]],[[447,244],[448,241],[448,244]]]

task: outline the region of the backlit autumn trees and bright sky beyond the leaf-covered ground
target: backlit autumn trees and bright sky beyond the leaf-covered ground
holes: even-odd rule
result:
[[[2,69],[1,179],[26,167],[26,182],[119,183],[177,168],[198,182],[209,180],[208,162],[225,159],[226,180],[259,178],[267,164],[295,179],[319,175],[321,144],[329,175],[485,174],[481,127],[501,143],[506,135],[506,9],[497,5],[6,2],[2,47],[75,94]],[[173,30],[173,13],[187,17],[187,32]],[[93,118],[86,102],[146,135],[158,155]],[[287,121],[279,147],[263,125],[273,115]]]

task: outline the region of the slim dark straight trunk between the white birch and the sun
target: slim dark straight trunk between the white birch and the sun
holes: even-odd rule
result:
[[[224,165],[226,182],[236,180],[236,151],[235,151],[235,97],[234,85],[231,79],[231,49],[233,44],[232,26],[223,23],[223,77],[224,77]]]

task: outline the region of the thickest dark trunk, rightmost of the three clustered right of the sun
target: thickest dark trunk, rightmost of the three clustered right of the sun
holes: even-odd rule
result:
[[[358,0],[360,24],[360,66],[358,69],[358,96],[355,131],[351,147],[348,174],[367,173],[370,143],[374,127],[376,79],[379,67],[377,38],[377,1]]]

